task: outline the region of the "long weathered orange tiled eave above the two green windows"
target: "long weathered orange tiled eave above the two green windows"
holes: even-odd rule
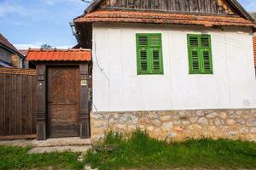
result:
[[[83,22],[130,22],[200,26],[249,26],[256,28],[253,21],[230,15],[170,14],[122,10],[97,10],[75,19]]]

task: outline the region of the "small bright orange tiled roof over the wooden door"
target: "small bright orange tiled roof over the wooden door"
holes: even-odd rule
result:
[[[29,49],[27,60],[32,61],[90,61],[90,49]]]

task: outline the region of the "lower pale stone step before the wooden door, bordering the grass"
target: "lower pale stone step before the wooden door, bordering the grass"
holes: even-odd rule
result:
[[[72,145],[72,146],[51,146],[51,147],[35,147],[31,150],[28,150],[28,154],[42,154],[42,153],[50,153],[50,152],[63,152],[66,150],[73,152],[85,152],[90,150],[91,145]]]

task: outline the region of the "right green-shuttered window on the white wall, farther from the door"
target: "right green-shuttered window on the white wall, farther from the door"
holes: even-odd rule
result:
[[[210,35],[188,35],[189,74],[212,74]]]

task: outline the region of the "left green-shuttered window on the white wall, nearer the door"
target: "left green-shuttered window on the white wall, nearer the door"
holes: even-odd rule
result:
[[[161,34],[136,34],[137,74],[163,74]]]

